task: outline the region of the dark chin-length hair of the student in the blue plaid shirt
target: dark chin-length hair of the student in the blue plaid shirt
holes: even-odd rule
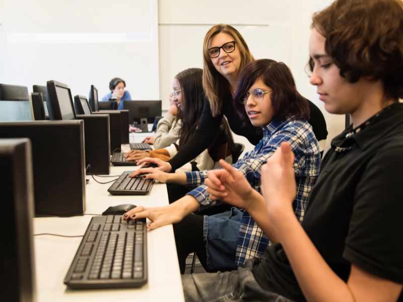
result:
[[[260,59],[245,66],[234,96],[234,107],[243,120],[248,117],[242,100],[257,78],[261,78],[264,84],[272,89],[274,118],[309,119],[308,100],[297,91],[290,68],[283,62]]]

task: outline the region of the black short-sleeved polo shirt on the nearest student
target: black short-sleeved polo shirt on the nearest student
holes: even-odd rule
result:
[[[351,263],[403,283],[403,104],[393,104],[331,142],[302,226],[331,269]],[[280,244],[254,268],[265,289],[305,300]],[[329,288],[329,293],[331,289]],[[398,301],[403,301],[402,294]]]

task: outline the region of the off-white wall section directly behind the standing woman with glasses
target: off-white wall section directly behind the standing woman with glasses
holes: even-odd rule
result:
[[[244,36],[255,58],[272,58],[290,66],[299,91],[323,112],[330,139],[344,128],[344,116],[329,115],[323,109],[316,88],[309,84],[305,66],[311,15],[331,0],[232,0],[230,3],[204,0],[159,0],[160,96],[163,109],[176,73],[203,65],[203,38],[217,23],[235,26]],[[244,137],[236,140],[252,146]]]

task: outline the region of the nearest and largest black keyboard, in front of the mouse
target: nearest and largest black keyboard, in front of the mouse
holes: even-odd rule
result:
[[[139,287],[147,283],[146,219],[96,216],[64,278],[74,289]]]

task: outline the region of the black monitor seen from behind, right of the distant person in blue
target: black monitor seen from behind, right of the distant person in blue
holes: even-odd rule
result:
[[[129,111],[129,123],[140,123],[147,118],[149,124],[154,122],[156,116],[161,116],[161,100],[158,101],[124,101],[123,109]]]

